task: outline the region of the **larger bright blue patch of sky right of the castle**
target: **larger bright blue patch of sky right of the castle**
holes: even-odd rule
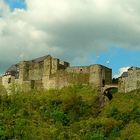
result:
[[[107,64],[109,61],[109,64]],[[100,55],[97,63],[113,68],[113,75],[118,73],[118,69],[128,66],[140,66],[140,52],[133,49],[116,48],[104,52]]]

